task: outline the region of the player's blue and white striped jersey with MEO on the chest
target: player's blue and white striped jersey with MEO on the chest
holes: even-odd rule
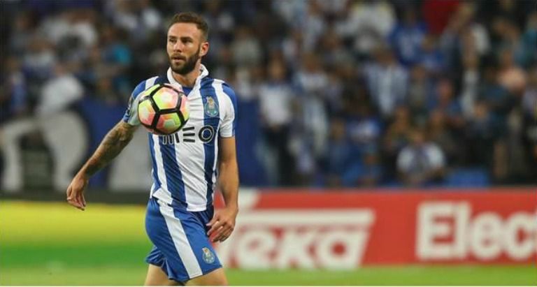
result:
[[[172,207],[194,212],[213,204],[218,137],[235,136],[235,92],[224,81],[210,78],[208,74],[201,65],[194,87],[183,87],[190,104],[190,117],[182,130],[165,136],[148,133],[153,179],[151,196]],[[159,83],[180,86],[173,79],[170,68],[166,76],[144,80],[131,94],[124,122],[140,124],[137,96]]]

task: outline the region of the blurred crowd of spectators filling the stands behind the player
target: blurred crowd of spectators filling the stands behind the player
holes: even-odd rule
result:
[[[167,21],[192,10],[210,27],[203,64],[258,112],[241,127],[255,136],[238,138],[256,147],[241,163],[259,164],[256,182],[537,183],[535,1],[1,6],[0,124],[85,97],[126,104],[139,81],[166,71]]]

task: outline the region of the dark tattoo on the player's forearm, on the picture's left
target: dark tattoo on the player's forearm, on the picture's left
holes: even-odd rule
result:
[[[95,172],[101,170],[101,168],[104,168],[129,144],[133,134],[133,131],[124,128],[121,124],[110,130],[104,137],[101,145],[99,145],[95,153],[87,161],[85,173],[87,175],[93,175]]]

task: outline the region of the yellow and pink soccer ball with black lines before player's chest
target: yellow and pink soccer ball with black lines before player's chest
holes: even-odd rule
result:
[[[189,103],[180,87],[155,84],[138,96],[138,118],[151,133],[171,135],[187,123]]]

